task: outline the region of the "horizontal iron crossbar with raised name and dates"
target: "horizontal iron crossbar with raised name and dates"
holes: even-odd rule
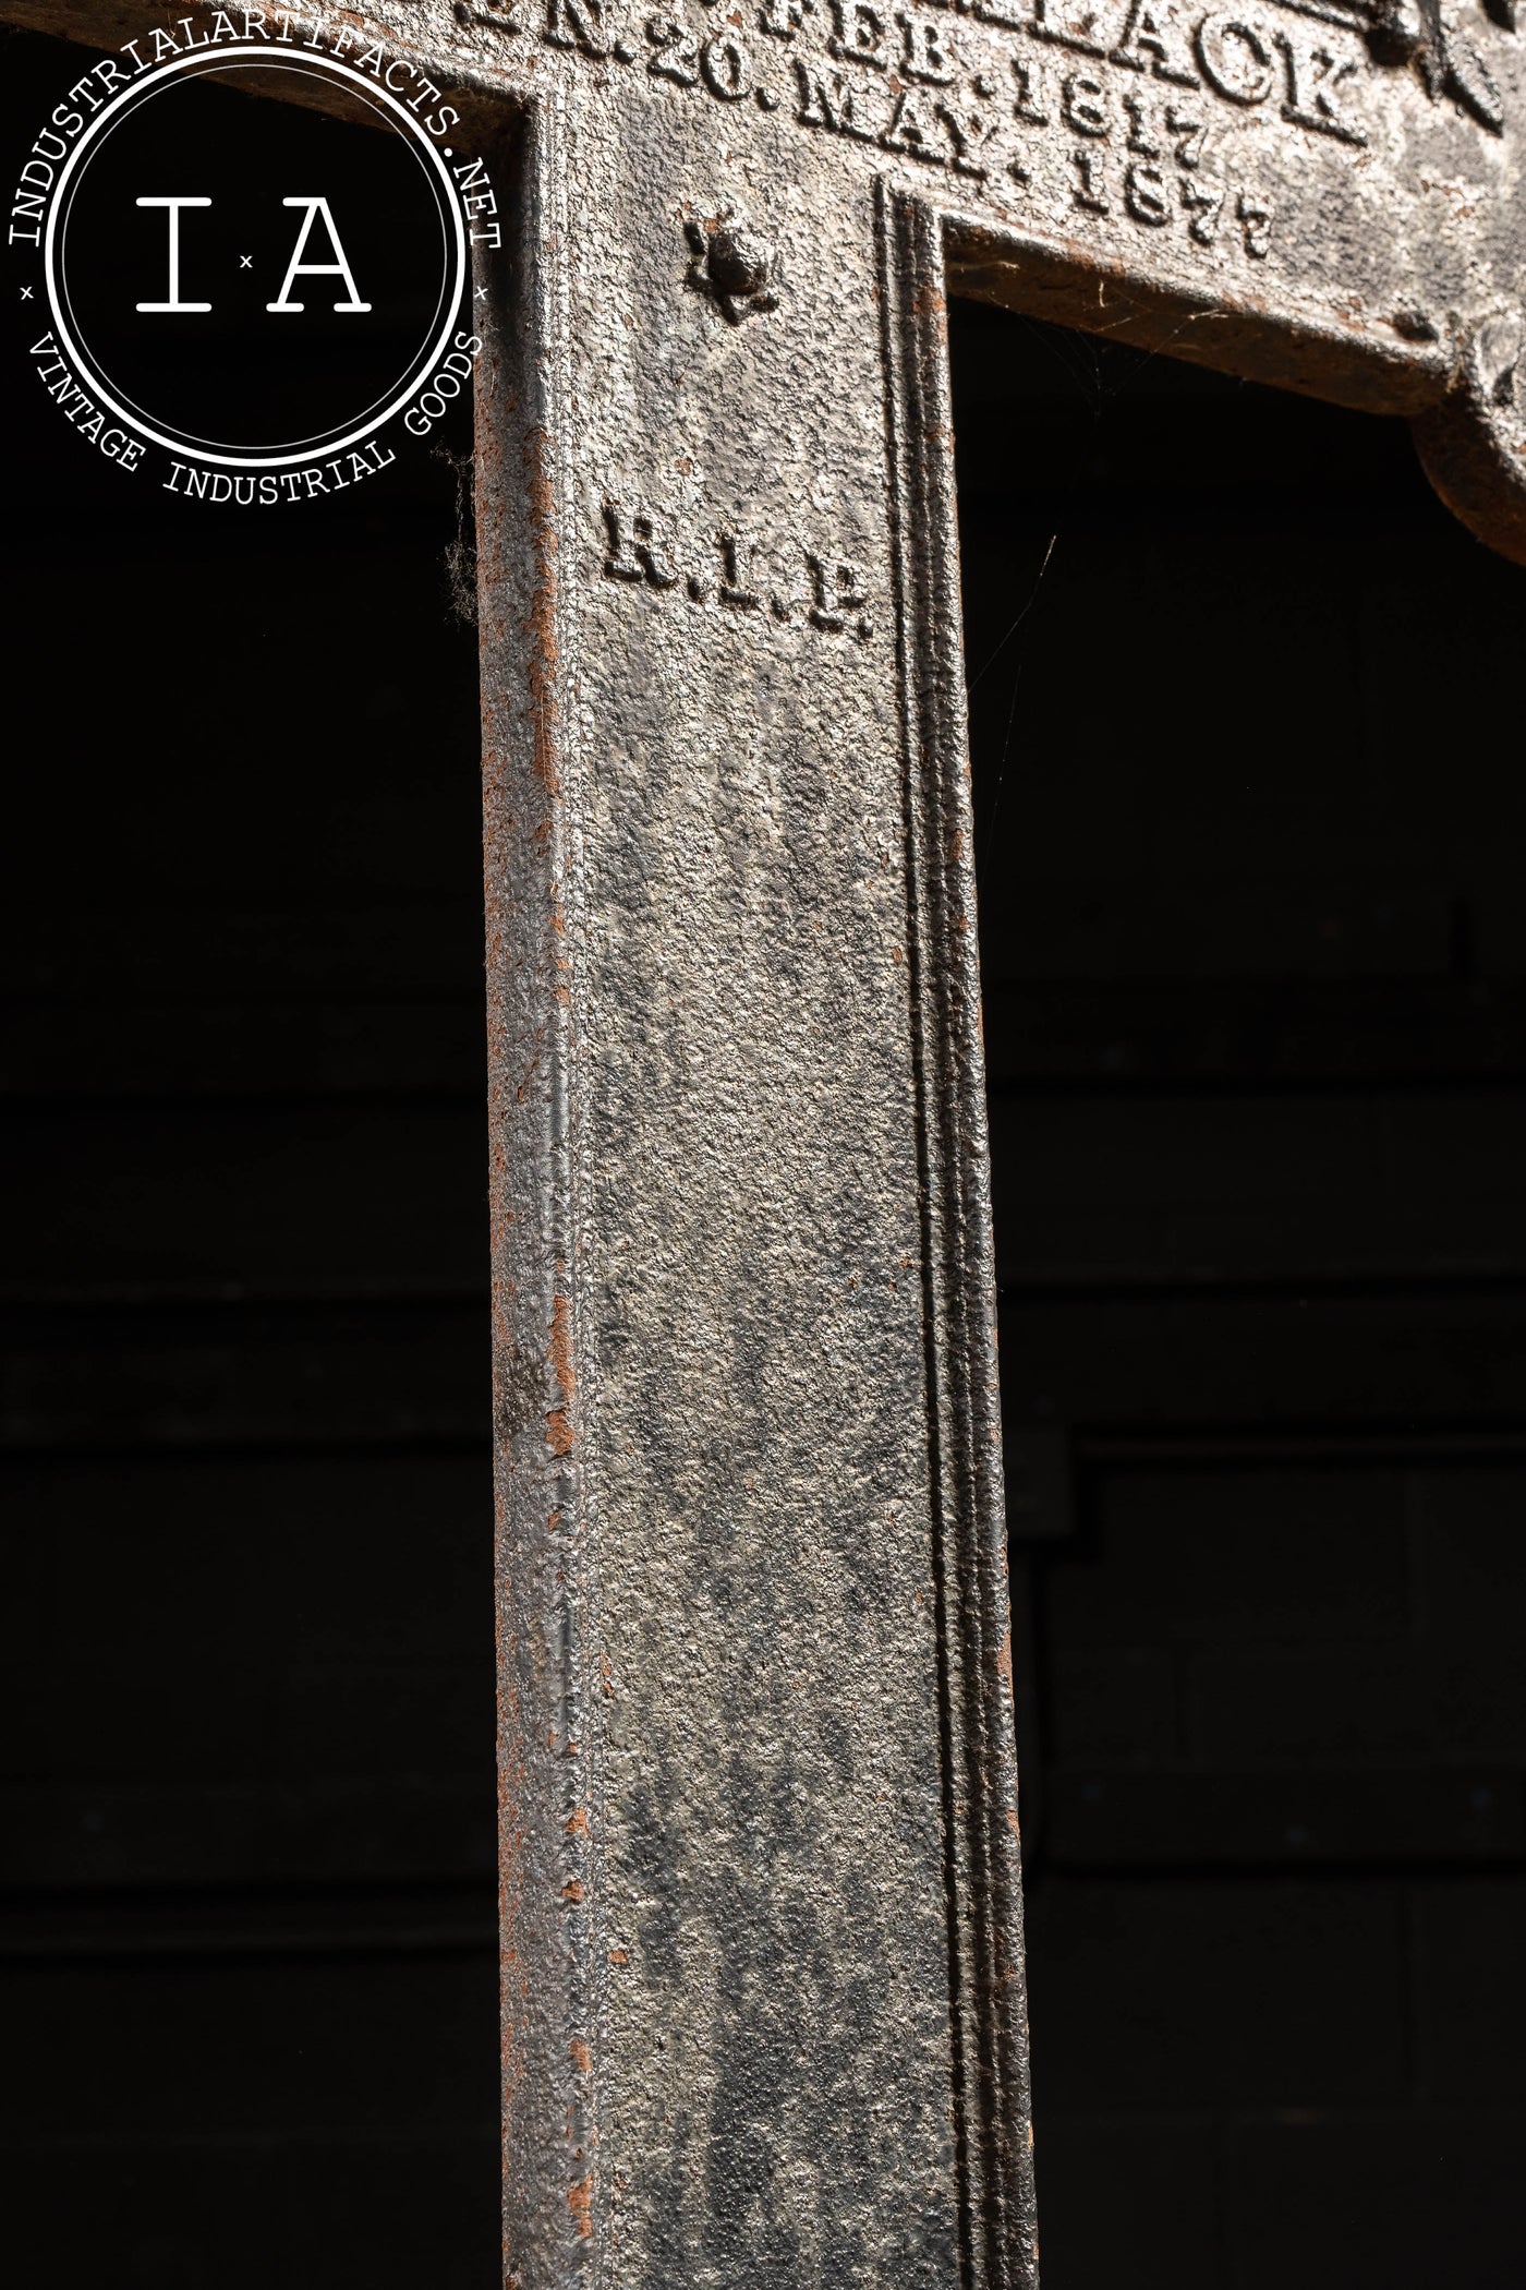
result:
[[[2,14],[105,46],[167,21],[144,0],[5,0]],[[631,156],[682,153],[707,188],[682,172],[650,185],[663,238],[732,222],[728,181],[764,243],[787,192],[901,181],[945,218],[961,291],[1418,417],[1457,513],[1526,552],[1517,0],[222,14],[327,25],[352,55],[377,37],[453,89],[554,101]],[[215,21],[185,18],[201,34]]]

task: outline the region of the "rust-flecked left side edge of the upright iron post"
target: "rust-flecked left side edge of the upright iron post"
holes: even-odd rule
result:
[[[510,254],[478,321],[478,614],[487,902],[503,2279],[606,2281],[599,2169],[595,1488],[579,1106],[583,882],[567,692],[574,614],[563,96],[503,96]],[[476,305],[483,309],[483,302]]]

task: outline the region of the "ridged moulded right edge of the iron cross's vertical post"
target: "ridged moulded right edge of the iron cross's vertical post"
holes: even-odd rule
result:
[[[1039,2281],[945,231],[876,185],[965,2281]]]

